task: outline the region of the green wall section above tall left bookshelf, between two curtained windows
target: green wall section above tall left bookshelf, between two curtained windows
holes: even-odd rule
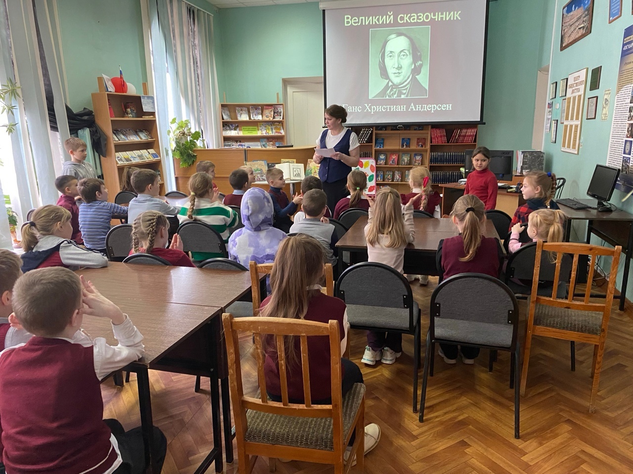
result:
[[[68,105],[92,109],[97,76],[118,75],[142,91],[147,81],[141,3],[138,0],[60,0],[57,3]]]

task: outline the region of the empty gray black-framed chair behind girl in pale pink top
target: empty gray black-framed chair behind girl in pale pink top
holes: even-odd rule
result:
[[[379,284],[369,284],[376,282]],[[334,296],[347,305],[349,325],[367,331],[413,336],[413,412],[417,408],[420,367],[420,308],[406,278],[389,265],[361,262],[345,270]],[[348,342],[349,344],[349,342]]]

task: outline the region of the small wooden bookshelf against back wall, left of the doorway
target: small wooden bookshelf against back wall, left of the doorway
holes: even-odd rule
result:
[[[275,118],[264,118],[266,112]],[[220,135],[225,147],[237,146],[240,142],[257,143],[261,148],[273,148],[278,142],[285,145],[286,130],[285,107],[279,102],[220,104]],[[266,146],[262,140],[266,142]]]

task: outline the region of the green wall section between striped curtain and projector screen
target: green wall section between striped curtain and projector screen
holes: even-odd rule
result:
[[[227,102],[272,102],[277,92],[282,100],[282,78],[323,75],[318,2],[223,8],[214,23],[222,46],[220,101],[226,93]]]

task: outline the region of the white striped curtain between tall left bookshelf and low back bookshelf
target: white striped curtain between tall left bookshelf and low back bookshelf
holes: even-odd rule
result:
[[[142,0],[145,1],[145,0]],[[166,131],[172,118],[189,119],[204,146],[219,142],[218,88],[213,52],[213,15],[183,0],[147,0],[149,47],[156,114],[168,185],[175,188]]]

